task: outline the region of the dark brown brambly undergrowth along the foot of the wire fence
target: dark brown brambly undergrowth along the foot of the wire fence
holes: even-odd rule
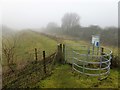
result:
[[[36,83],[52,74],[54,69],[54,54],[52,57],[46,57],[45,66],[43,60],[31,61],[27,65],[13,72],[3,74],[3,89],[5,88],[34,88]],[[46,72],[44,72],[46,67]]]

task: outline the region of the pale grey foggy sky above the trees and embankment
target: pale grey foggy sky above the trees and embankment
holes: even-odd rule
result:
[[[118,26],[118,1],[2,0],[2,24],[17,29],[45,27],[48,22],[60,25],[66,12],[75,12],[82,26]]]

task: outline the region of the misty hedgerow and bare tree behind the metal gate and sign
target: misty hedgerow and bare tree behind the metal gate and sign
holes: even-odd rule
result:
[[[89,44],[91,43],[92,35],[100,35],[100,45],[106,46],[113,51],[112,66],[118,67],[120,62],[120,57],[118,56],[118,28],[101,28],[98,25],[82,27],[79,22],[79,16],[76,13],[66,13],[62,18],[60,27],[46,28],[44,33],[48,32],[48,34],[55,37],[72,37],[73,41],[84,41]]]

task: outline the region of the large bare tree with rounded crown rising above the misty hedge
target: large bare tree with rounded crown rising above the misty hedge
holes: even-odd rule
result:
[[[66,13],[62,18],[62,28],[68,29],[79,25],[80,17],[76,13]]]

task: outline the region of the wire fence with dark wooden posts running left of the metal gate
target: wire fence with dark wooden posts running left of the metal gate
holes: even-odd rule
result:
[[[26,62],[26,64],[20,65],[22,68],[15,70],[15,72],[3,74],[3,88],[34,87],[41,79],[51,75],[55,65],[56,52],[49,56],[46,53],[35,48],[33,53],[22,54],[23,57],[20,57],[19,54],[16,58]]]

